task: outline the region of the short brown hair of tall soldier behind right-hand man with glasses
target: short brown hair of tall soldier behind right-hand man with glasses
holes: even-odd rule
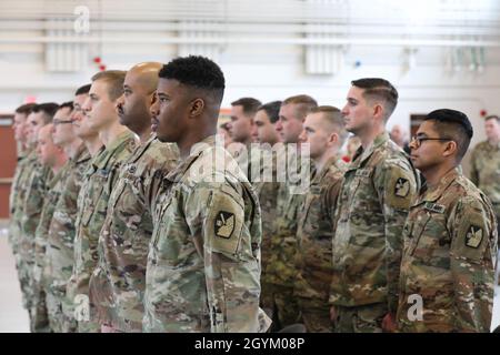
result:
[[[384,121],[389,120],[398,105],[398,90],[386,79],[363,78],[351,81],[353,87],[363,89],[366,100],[381,100],[386,111]]]

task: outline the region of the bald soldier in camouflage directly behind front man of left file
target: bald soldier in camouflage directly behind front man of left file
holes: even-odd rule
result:
[[[118,99],[120,123],[141,140],[123,162],[99,236],[99,263],[90,278],[101,332],[142,332],[148,246],[153,231],[152,202],[163,176],[177,165],[176,144],[151,134],[150,108],[161,63],[131,68]]]

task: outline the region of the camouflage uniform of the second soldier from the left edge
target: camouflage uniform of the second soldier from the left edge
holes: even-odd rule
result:
[[[28,288],[28,310],[30,311],[30,328],[32,332],[43,331],[38,327],[37,320],[32,312],[34,306],[34,290],[33,290],[33,271],[34,271],[34,233],[40,223],[41,213],[43,210],[43,201],[48,193],[48,183],[53,178],[53,172],[50,168],[43,166],[41,163],[34,162],[33,170],[28,181],[28,189],[26,192],[26,200],[23,202],[22,219],[21,219],[21,248],[20,254],[23,263],[24,286]]]

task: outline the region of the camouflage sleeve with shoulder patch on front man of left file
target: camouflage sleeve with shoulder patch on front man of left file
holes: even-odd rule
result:
[[[260,261],[252,250],[256,206],[227,183],[202,184],[186,206],[198,205],[211,332],[257,332]],[[206,202],[206,203],[201,203]],[[191,213],[190,213],[191,214]],[[260,231],[260,229],[258,229]]]

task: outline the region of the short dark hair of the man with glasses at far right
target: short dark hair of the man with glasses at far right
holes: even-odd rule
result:
[[[467,114],[456,110],[441,109],[429,113],[423,121],[433,121],[440,138],[450,139],[457,143],[457,159],[461,161],[474,133]]]

